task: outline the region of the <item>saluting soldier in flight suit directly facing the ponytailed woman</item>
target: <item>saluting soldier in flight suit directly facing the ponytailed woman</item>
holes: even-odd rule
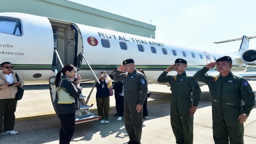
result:
[[[128,73],[119,75],[125,69]],[[137,71],[134,60],[127,59],[114,74],[116,81],[124,81],[124,126],[130,138],[124,144],[140,144],[142,134],[142,106],[148,92],[145,76]]]

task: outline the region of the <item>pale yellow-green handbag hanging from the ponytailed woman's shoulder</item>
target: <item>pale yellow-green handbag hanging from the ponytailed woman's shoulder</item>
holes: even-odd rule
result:
[[[60,86],[61,86],[62,80],[60,81]],[[72,103],[75,103],[75,98],[72,97],[64,87],[60,87],[60,86],[57,87],[58,104],[72,104]]]

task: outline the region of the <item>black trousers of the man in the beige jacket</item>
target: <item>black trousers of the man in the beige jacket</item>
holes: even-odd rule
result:
[[[13,99],[0,99],[0,133],[2,131],[12,131],[15,123],[16,111],[15,98]],[[4,124],[4,129],[3,129]]]

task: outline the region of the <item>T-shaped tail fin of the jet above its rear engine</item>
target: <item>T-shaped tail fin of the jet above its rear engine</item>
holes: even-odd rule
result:
[[[249,47],[249,42],[251,38],[256,38],[256,36],[243,36],[241,38],[236,38],[236,39],[230,39],[230,40],[226,40],[226,41],[220,41],[220,42],[214,42],[215,44],[219,44],[219,43],[226,43],[226,42],[231,42],[231,41],[237,41],[237,40],[242,40],[241,45],[240,45],[240,49],[238,52],[240,52],[240,54],[242,54],[245,50],[248,50]]]

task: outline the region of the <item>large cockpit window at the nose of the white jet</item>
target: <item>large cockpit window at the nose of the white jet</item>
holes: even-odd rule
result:
[[[9,17],[0,17],[0,32],[21,36],[21,20]]]

